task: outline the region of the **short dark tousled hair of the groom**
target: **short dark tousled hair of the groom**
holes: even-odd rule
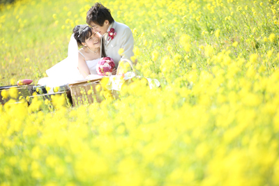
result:
[[[101,3],[96,3],[92,6],[86,15],[86,23],[91,25],[91,22],[103,26],[105,20],[108,20],[110,24],[114,22],[112,15],[110,14],[110,9],[105,8]]]

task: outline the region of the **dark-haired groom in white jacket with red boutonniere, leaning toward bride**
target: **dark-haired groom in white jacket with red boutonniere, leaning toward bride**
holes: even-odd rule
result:
[[[105,53],[114,60],[116,68],[121,59],[129,59],[134,56],[133,33],[125,24],[114,21],[110,10],[101,3],[92,6],[86,15],[86,22],[95,32],[99,32],[105,38]],[[123,49],[122,56],[119,49]]]

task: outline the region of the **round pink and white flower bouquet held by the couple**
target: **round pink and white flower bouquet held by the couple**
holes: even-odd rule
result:
[[[112,70],[114,69],[114,61],[110,57],[101,58],[97,64],[98,75],[110,76],[112,75]]]

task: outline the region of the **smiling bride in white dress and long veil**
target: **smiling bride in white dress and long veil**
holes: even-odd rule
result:
[[[98,75],[96,65],[100,58],[106,57],[103,43],[100,33],[94,32],[90,26],[75,26],[68,45],[68,57],[46,70],[48,77],[40,79],[38,84],[53,88],[85,79],[88,75]],[[115,68],[112,75],[116,75]]]

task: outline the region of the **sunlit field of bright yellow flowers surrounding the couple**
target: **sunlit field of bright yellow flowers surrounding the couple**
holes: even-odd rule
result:
[[[46,77],[95,1],[0,9],[0,86]],[[121,99],[0,109],[0,185],[279,185],[279,1],[101,1],[133,31]]]

